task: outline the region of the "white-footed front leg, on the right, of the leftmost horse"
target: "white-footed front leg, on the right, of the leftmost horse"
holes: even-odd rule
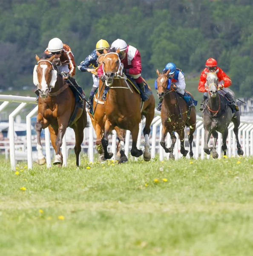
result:
[[[62,165],[63,162],[63,157],[62,154],[60,152],[60,147],[62,145],[62,138],[66,132],[66,128],[68,126],[68,122],[69,120],[64,118],[63,116],[60,116],[58,118],[58,125],[59,125],[59,129],[58,129],[58,134],[55,140],[55,144],[56,144],[56,152],[55,152],[55,160],[54,160],[54,165]]]

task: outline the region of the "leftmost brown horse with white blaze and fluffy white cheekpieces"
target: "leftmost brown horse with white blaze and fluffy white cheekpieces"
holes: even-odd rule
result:
[[[69,85],[58,75],[58,69],[52,61],[55,55],[43,54],[43,58],[36,55],[38,64],[34,68],[34,84],[37,86],[40,97],[38,101],[38,114],[35,130],[37,132],[38,163],[46,163],[42,154],[40,134],[42,128],[49,128],[52,146],[55,149],[54,164],[62,166],[63,157],[60,152],[62,139],[66,128],[70,126],[75,131],[76,165],[79,166],[79,154],[83,142],[83,129],[87,125],[85,106],[78,108],[75,119],[69,124],[75,108],[75,97]]]

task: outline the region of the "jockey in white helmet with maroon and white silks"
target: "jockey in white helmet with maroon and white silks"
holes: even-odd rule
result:
[[[141,77],[141,55],[138,49],[127,45],[126,42],[122,39],[117,39],[112,43],[112,47],[120,49],[119,58],[121,63],[124,64],[123,73],[126,75],[132,76],[135,79],[136,84],[143,92],[142,101],[146,101],[149,97],[145,94],[144,82]],[[98,76],[102,81],[105,81],[105,76],[103,74],[103,67],[98,69]],[[106,87],[102,96],[102,99],[106,99],[106,93],[109,88]]]

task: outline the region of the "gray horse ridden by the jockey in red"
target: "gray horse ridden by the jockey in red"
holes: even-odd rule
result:
[[[232,121],[234,123],[234,134],[236,135],[236,143],[237,143],[237,154],[243,155],[243,151],[238,139],[238,128],[240,125],[240,113],[239,111],[236,113],[232,112],[232,109],[227,104],[227,99],[225,96],[218,93],[218,73],[219,69],[216,70],[215,73],[207,73],[207,87],[208,87],[208,101],[207,106],[204,109],[203,113],[203,122],[204,122],[204,151],[207,154],[210,154],[213,151],[213,158],[218,158],[219,155],[216,152],[216,142],[218,139],[219,131],[222,134],[222,150],[224,155],[227,153],[227,135],[228,135],[228,125]],[[235,97],[235,93],[233,93],[230,89],[223,89],[225,93],[230,93],[233,97]],[[221,90],[222,91],[222,90]],[[225,94],[224,93],[224,94]],[[208,147],[208,142],[210,140],[210,136],[213,134],[213,147]]]

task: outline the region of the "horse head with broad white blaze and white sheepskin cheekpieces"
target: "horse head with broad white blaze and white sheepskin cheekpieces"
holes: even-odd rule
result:
[[[36,60],[38,62],[33,70],[33,82],[37,86],[40,92],[41,98],[46,98],[47,94],[55,87],[57,81],[58,71],[52,63],[55,55],[43,55],[43,58],[39,58],[36,55]]]

